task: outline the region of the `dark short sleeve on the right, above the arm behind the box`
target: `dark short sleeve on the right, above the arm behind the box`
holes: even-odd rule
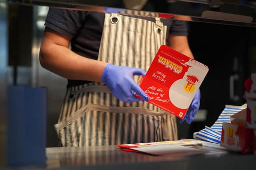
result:
[[[174,35],[188,35],[186,21],[173,20],[169,33]]]

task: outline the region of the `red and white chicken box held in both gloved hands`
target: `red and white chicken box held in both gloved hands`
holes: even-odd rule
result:
[[[162,45],[139,85],[149,103],[183,119],[208,70],[208,66]]]

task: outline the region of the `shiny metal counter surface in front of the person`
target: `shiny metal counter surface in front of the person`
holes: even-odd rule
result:
[[[47,169],[104,170],[244,170],[256,169],[256,155],[238,154],[208,147],[204,154],[193,156],[126,152],[116,146],[46,148]],[[45,168],[44,168],[45,169]]]

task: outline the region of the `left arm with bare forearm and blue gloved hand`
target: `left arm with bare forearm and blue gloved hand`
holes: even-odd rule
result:
[[[133,79],[135,75],[145,75],[144,70],[115,66],[77,55],[68,49],[70,40],[70,37],[46,27],[40,48],[41,65],[64,78],[103,82],[123,102],[141,100],[132,91],[148,102],[148,96]]]

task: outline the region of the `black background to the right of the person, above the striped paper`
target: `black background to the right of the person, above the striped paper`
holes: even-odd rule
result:
[[[244,81],[255,72],[255,34],[249,27],[219,25],[211,23],[188,23],[189,44],[196,60],[206,64],[209,72],[202,83],[200,109],[207,110],[205,122],[192,123],[192,133],[212,126],[225,104],[241,106]],[[237,75],[234,81],[234,95],[230,98],[230,76]]]

